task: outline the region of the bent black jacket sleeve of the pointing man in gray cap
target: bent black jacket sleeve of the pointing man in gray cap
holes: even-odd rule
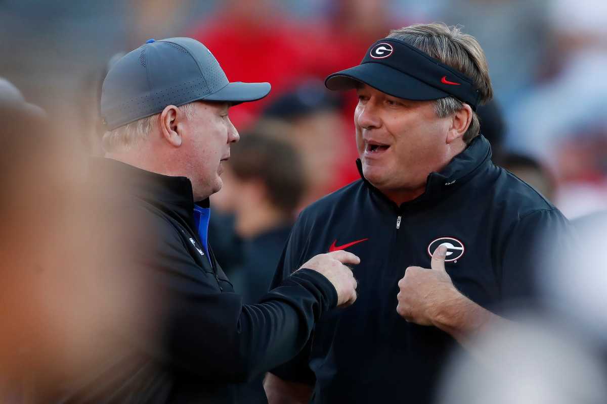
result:
[[[219,292],[214,274],[195,263],[175,231],[161,240],[143,259],[167,302],[161,356],[205,381],[241,382],[286,362],[336,306],[333,285],[306,269],[289,273],[259,304],[243,305],[239,294]]]

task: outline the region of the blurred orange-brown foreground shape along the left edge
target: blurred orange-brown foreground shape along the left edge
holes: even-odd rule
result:
[[[131,333],[140,294],[131,274],[100,266],[96,237],[113,230],[93,214],[66,122],[55,130],[4,79],[0,118],[0,401],[48,402],[121,354],[106,332]]]

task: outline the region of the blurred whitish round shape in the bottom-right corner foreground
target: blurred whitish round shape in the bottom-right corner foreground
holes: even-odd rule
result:
[[[463,351],[444,372],[439,404],[600,404],[607,400],[606,366],[594,346],[541,317],[519,318]]]

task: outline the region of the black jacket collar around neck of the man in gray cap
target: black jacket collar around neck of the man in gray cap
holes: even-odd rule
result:
[[[120,161],[95,158],[93,175],[102,174],[110,180],[109,186],[118,187],[127,194],[145,200],[160,210],[185,220],[191,228],[194,225],[194,194],[188,177],[174,177],[141,170],[141,168]],[[196,205],[208,208],[209,199]]]

